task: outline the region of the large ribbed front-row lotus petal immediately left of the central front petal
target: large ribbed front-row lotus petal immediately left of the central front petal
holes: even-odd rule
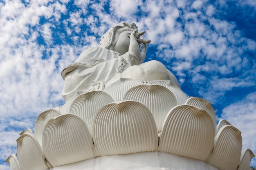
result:
[[[43,130],[43,150],[53,167],[94,158],[92,136],[76,115],[50,119]]]

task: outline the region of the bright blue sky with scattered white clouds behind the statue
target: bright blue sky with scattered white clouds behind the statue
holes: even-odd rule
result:
[[[119,22],[145,30],[146,61],[211,102],[256,154],[255,18],[255,0],[0,0],[0,170],[18,134],[64,104],[63,68]]]

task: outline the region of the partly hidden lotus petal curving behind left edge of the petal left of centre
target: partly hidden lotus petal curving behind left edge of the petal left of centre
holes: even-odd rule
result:
[[[45,112],[38,115],[36,119],[36,124],[35,124],[35,137],[38,140],[40,146],[42,146],[42,134],[43,134],[43,128],[45,127],[45,124],[50,119],[58,115],[61,115],[61,113],[55,109],[46,110]]]

